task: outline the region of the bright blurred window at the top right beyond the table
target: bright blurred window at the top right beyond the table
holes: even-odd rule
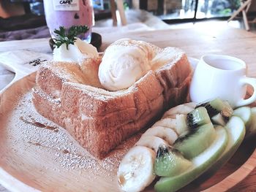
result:
[[[162,20],[195,20],[229,17],[240,7],[240,0],[133,0],[132,5]]]

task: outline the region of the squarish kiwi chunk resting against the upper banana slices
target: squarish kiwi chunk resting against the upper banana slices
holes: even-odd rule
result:
[[[189,128],[194,129],[207,123],[211,123],[211,119],[205,107],[198,107],[187,114]]]

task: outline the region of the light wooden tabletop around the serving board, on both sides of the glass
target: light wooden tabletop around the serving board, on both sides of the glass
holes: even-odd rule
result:
[[[192,58],[200,58],[202,55],[212,53],[233,55],[246,62],[248,66],[247,76],[256,77],[256,34],[241,29],[197,27],[102,34],[101,50],[105,50],[105,47],[108,47],[111,42],[121,38],[139,39],[159,47],[180,47]],[[0,52],[7,50],[34,50],[41,53],[51,53],[48,39],[0,42]],[[256,169],[232,191],[256,191]]]

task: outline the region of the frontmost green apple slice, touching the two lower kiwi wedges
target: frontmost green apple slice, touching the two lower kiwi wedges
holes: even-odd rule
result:
[[[211,164],[217,161],[219,156],[222,155],[228,140],[225,128],[218,127],[216,131],[217,137],[214,139],[214,142],[204,150],[203,153],[192,158],[193,165],[190,169],[174,177],[161,177],[156,185],[154,185],[154,189],[161,192],[177,191],[192,182],[192,180],[195,180],[195,178],[199,177],[200,174],[203,174],[203,172],[211,167]]]

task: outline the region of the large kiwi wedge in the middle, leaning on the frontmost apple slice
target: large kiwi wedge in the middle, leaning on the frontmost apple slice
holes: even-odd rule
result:
[[[184,158],[192,159],[206,150],[215,137],[214,126],[212,123],[208,123],[191,131],[185,137],[178,138],[173,146],[184,155]]]

